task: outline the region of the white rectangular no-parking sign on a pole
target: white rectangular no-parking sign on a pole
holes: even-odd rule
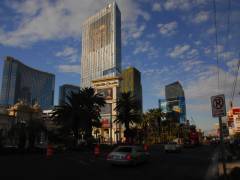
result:
[[[213,117],[223,117],[226,116],[226,105],[224,94],[212,96],[212,116]]]

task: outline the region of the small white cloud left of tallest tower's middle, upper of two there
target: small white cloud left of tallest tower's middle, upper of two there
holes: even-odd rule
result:
[[[80,60],[78,50],[73,47],[65,47],[62,51],[59,51],[55,54],[57,57],[62,57],[68,59],[71,63]]]

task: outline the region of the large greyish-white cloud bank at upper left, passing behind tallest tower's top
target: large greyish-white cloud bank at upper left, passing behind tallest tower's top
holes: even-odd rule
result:
[[[138,17],[150,19],[150,15],[134,0],[117,0],[117,3],[122,13],[124,29],[136,24]],[[26,0],[7,1],[7,4],[20,20],[12,31],[0,32],[0,44],[26,47],[39,41],[68,37],[80,39],[83,21],[106,6],[106,1]]]

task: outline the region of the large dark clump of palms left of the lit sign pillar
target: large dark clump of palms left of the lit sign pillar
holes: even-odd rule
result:
[[[72,92],[67,100],[54,109],[52,117],[58,125],[73,133],[76,145],[79,131],[84,132],[85,139],[88,139],[92,137],[92,128],[100,126],[100,108],[105,100],[91,87],[81,89],[78,93]]]

